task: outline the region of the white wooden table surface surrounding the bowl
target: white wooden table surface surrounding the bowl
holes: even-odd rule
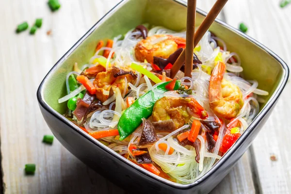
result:
[[[198,0],[209,11],[215,0]],[[126,193],[80,162],[51,134],[36,100],[40,81],[55,62],[119,0],[60,0],[51,13],[47,0],[0,0],[0,149],[5,194]],[[280,0],[229,0],[220,19],[237,27],[245,22],[248,34],[291,63],[291,5]],[[16,34],[16,25],[43,18],[35,35]],[[47,31],[51,31],[47,35]],[[211,192],[213,194],[291,193],[291,84],[251,148]],[[271,161],[275,155],[277,161]],[[34,176],[24,165],[36,163]],[[1,193],[1,192],[0,192]]]

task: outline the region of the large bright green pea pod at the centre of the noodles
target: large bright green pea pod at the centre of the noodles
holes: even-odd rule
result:
[[[162,83],[155,90],[162,93],[167,92],[168,90],[165,89],[165,86],[169,82],[171,81]],[[174,90],[177,90],[180,85],[181,82],[176,81]],[[162,96],[156,95],[153,91],[149,91],[144,96],[135,100],[134,103],[122,113],[117,125],[120,141],[124,140],[141,125],[142,118],[148,118],[152,114],[155,102],[160,98],[162,98]]]

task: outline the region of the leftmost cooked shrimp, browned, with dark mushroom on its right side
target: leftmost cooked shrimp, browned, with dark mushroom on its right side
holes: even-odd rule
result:
[[[108,71],[98,73],[93,82],[96,88],[96,97],[103,103],[113,95],[117,87],[121,94],[123,94],[124,88],[128,92],[128,87],[125,87],[125,78],[128,83],[132,83],[137,76],[132,71],[125,71],[114,66],[109,68]]]

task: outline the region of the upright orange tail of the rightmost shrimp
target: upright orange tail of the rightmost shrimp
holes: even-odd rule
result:
[[[217,102],[222,99],[221,82],[226,72],[226,65],[218,62],[214,67],[209,82],[209,102]]]

